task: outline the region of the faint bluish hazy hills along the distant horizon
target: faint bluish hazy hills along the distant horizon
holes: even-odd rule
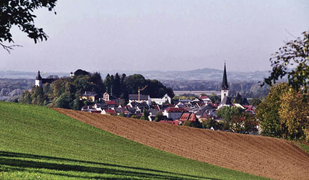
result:
[[[205,81],[222,81],[223,70],[213,68],[202,68],[196,70],[98,70],[102,77],[105,77],[107,73],[125,73],[126,75],[141,74],[146,79],[165,79],[165,80],[205,80]],[[48,75],[58,75],[59,77],[69,76],[68,73],[45,73],[44,77]],[[13,70],[0,70],[0,78],[11,79],[34,79],[36,72],[23,72]],[[255,72],[238,72],[227,70],[228,81],[262,81],[264,77],[268,76],[268,71],[255,71]]]

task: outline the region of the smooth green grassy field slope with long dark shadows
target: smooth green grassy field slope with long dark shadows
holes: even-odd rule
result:
[[[265,179],[80,123],[47,107],[0,102],[0,179]]]

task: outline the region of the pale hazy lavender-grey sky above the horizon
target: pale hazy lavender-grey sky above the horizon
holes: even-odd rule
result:
[[[56,12],[36,11],[45,42],[12,30],[23,47],[0,49],[0,70],[268,70],[271,53],[309,30],[307,0],[58,0]]]

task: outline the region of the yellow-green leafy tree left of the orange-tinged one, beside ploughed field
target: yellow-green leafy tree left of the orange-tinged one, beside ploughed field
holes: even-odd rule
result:
[[[288,91],[286,83],[279,83],[273,86],[267,97],[258,105],[257,117],[262,128],[262,135],[282,137],[286,127],[280,122],[279,109],[281,105],[280,97]]]

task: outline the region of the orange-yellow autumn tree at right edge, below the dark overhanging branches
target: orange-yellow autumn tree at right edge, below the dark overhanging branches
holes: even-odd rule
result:
[[[309,141],[309,101],[296,90],[288,90],[280,97],[279,118],[281,125],[287,128],[283,138]]]

